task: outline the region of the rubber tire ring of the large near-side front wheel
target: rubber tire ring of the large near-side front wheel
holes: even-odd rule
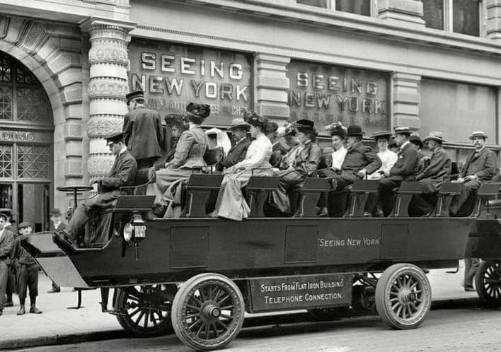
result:
[[[231,332],[229,336],[226,336],[226,339],[224,339],[224,341],[219,342],[219,344],[208,345],[192,340],[190,339],[190,336],[186,334],[185,329],[183,329],[183,303],[185,302],[185,300],[189,299],[188,294],[190,293],[190,291],[192,291],[193,288],[199,286],[205,281],[221,281],[221,283],[229,286],[229,288],[234,291],[236,299],[238,300],[238,302],[235,303],[239,310],[239,314],[236,315],[236,319],[238,319],[237,325],[234,328],[234,331]],[[178,336],[178,339],[186,346],[190,346],[197,351],[213,351],[219,348],[223,348],[231,341],[233,341],[242,328],[244,315],[245,304],[243,301],[242,293],[238,286],[236,286],[236,284],[226,276],[214,273],[199,274],[186,281],[183,286],[179,288],[178,293],[175,294],[171,312],[172,326],[175,334]]]

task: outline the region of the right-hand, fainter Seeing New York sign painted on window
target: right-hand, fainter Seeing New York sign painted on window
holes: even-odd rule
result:
[[[321,135],[338,121],[366,136],[389,128],[388,74],[294,60],[287,69],[291,121],[310,119]]]

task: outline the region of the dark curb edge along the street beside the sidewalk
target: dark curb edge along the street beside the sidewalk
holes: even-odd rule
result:
[[[461,307],[482,307],[480,298],[445,298],[440,300],[434,300],[432,302],[432,310],[440,309],[454,309]],[[287,313],[285,313],[287,315]],[[367,315],[370,316],[370,315]],[[287,318],[277,317],[277,316],[267,316],[267,317],[249,317],[247,324],[244,323],[243,327],[255,327],[263,324],[290,324],[297,322],[304,322],[304,319],[308,317],[308,313],[289,313]],[[123,329],[100,331],[100,332],[84,332],[81,334],[53,334],[47,336],[37,336],[33,338],[17,338],[17,339],[6,339],[0,341],[0,350],[8,350],[14,348],[27,348],[35,346],[53,346],[53,345],[64,345],[64,344],[77,344],[79,342],[87,341],[103,341],[111,339],[125,339],[129,337],[129,334]]]

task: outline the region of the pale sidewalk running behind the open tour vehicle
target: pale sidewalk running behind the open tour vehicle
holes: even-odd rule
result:
[[[433,307],[451,307],[472,304],[477,301],[475,292],[465,292],[461,287],[463,263],[457,274],[447,274],[445,269],[430,271]],[[451,270],[451,269],[448,269]],[[127,336],[115,316],[100,311],[100,291],[82,291],[82,305],[74,307],[77,293],[71,288],[62,288],[60,293],[47,293],[51,281],[44,274],[39,277],[37,305],[41,315],[16,315],[19,309],[17,296],[14,307],[4,309],[0,317],[0,349],[23,348],[54,344],[71,344],[81,341],[113,339]],[[29,302],[27,300],[27,307]],[[248,315],[255,316],[255,315]]]

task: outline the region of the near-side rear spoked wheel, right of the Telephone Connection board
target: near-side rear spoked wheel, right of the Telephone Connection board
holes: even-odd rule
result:
[[[394,264],[376,285],[376,309],[393,329],[415,329],[425,319],[432,303],[426,274],[412,264]]]

